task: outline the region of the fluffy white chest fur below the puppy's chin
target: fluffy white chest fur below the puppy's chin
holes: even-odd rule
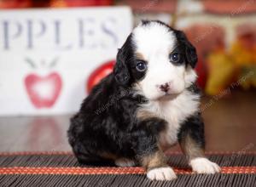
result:
[[[154,116],[166,120],[166,130],[160,133],[160,144],[163,149],[177,142],[177,133],[181,124],[198,111],[199,96],[186,95],[172,101],[150,102],[143,107]]]

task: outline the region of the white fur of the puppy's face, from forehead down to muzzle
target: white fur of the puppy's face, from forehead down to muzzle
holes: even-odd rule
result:
[[[195,82],[195,71],[186,68],[185,62],[176,65],[170,61],[169,55],[176,48],[177,37],[169,27],[152,21],[137,26],[132,33],[136,53],[147,61],[145,76],[137,82],[146,98],[155,100],[165,96],[160,86],[167,83],[170,85],[168,94],[181,94]]]

